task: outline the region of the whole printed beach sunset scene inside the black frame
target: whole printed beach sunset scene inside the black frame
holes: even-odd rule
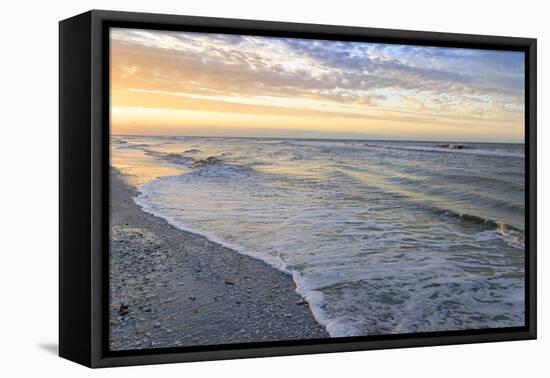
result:
[[[525,325],[523,52],[110,29],[112,351]]]

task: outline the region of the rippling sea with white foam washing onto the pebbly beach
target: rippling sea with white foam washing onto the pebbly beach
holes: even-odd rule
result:
[[[112,136],[111,165],[333,337],[524,325],[523,144]]]

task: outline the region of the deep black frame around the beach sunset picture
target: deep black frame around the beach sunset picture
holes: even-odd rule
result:
[[[109,27],[525,52],[525,327],[109,351]],[[536,39],[92,10],[59,24],[59,354],[88,367],[536,338]]]

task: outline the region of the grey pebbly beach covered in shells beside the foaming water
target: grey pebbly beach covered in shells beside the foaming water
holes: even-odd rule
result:
[[[329,337],[291,276],[143,211],[111,169],[112,350]]]

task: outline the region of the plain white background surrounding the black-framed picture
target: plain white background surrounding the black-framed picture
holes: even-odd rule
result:
[[[0,22],[2,247],[0,375],[222,376],[362,375],[419,377],[541,376],[548,363],[550,211],[543,197],[550,152],[550,27],[544,1],[82,0],[6,1]],[[538,341],[416,348],[302,357],[91,371],[62,360],[57,343],[57,21],[91,8],[277,21],[372,26],[539,39],[539,319]],[[546,113],[547,114],[547,113]],[[547,348],[546,353],[543,352]],[[538,374],[536,374],[538,371]],[[33,374],[33,375],[31,375]]]

